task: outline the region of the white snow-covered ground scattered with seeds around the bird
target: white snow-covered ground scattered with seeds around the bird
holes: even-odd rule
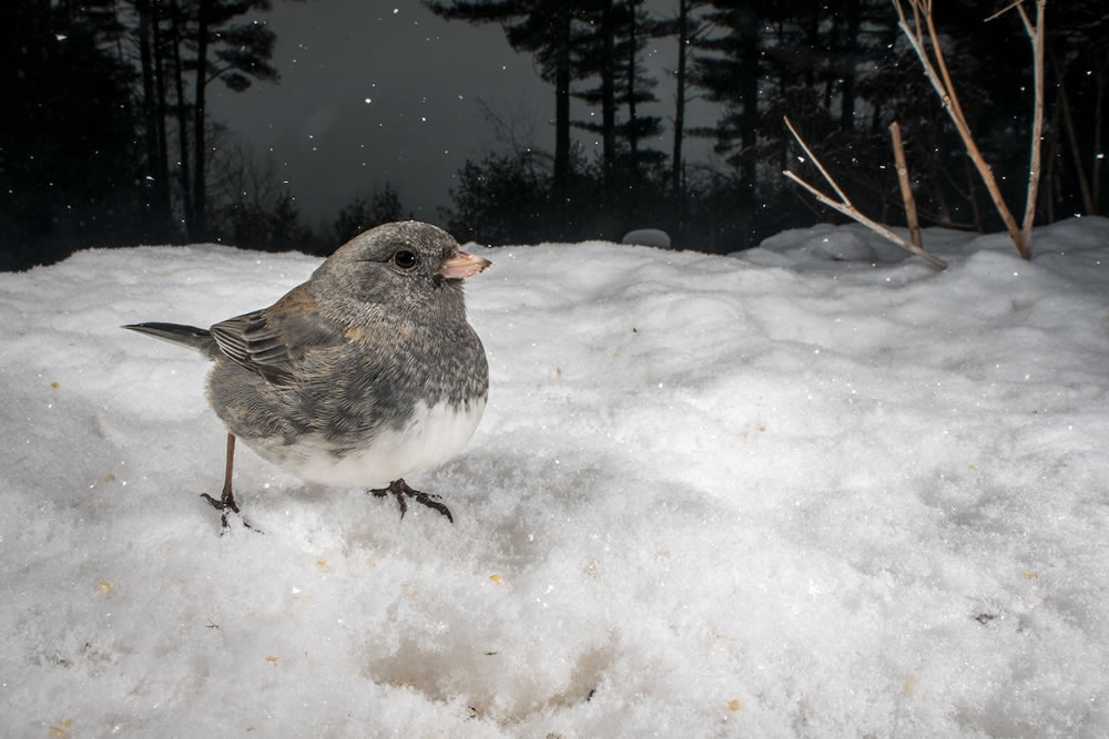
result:
[[[318,260],[0,275],[0,732],[1109,735],[1109,220],[926,246],[490,250],[456,523],[241,448],[223,536],[206,363],[119,326]]]

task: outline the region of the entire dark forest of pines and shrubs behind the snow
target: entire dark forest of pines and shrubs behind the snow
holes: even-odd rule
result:
[[[871,217],[905,223],[891,148],[897,122],[922,224],[1001,227],[889,0],[674,0],[664,13],[644,0],[425,4],[452,22],[501,27],[553,97],[541,145],[506,131],[499,147],[444,183],[449,204],[439,220],[459,240],[619,240],[634,224],[665,229],[676,248],[728,253],[784,228],[843,220],[783,177],[786,168],[818,177],[786,115]],[[949,0],[936,3],[934,21],[968,125],[1001,195],[1020,211],[1036,105],[1032,45],[1016,12],[998,13],[1013,4]],[[272,8],[6,0],[0,269],[91,245],[220,242],[325,255],[407,217],[385,185],[353,193],[329,224],[311,225],[274,163],[210,114],[213,85],[279,83],[277,38],[264,21]],[[1050,3],[1045,25],[1038,223],[1109,208],[1109,7]],[[667,70],[670,100],[659,100],[659,80],[644,68],[645,50],[660,44],[676,59]],[[711,103],[713,123],[686,123],[692,100]],[[649,103],[668,114],[644,113]],[[582,132],[600,142],[598,153],[580,144]],[[690,158],[694,138],[718,156]]]

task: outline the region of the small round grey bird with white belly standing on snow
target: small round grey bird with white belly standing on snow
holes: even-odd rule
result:
[[[466,445],[481,419],[489,367],[466,320],[462,280],[489,261],[425,223],[378,226],[340,247],[274,305],[210,329],[124,326],[196,349],[215,367],[207,399],[227,425],[223,494],[235,438],[264,459],[326,485],[373,487],[454,521],[408,474]]]

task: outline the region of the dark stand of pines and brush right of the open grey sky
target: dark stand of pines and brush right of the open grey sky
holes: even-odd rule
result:
[[[935,20],[971,130],[1020,209],[1034,115],[1031,45],[1015,10],[985,22],[1006,4],[949,0],[936,3]],[[648,13],[643,0],[428,6],[448,19],[499,23],[516,50],[533,55],[556,97],[552,153],[517,146],[467,163],[444,214],[461,238],[618,239],[653,226],[679,247],[731,252],[783,228],[841,220],[782,177],[790,167],[820,181],[798,163],[785,115],[866,213],[903,223],[888,132],[898,121],[925,223],[1001,227],[889,0],[675,0],[668,17]],[[1040,222],[1109,205],[1101,166],[1109,6],[1051,3],[1047,28]],[[661,106],[671,111],[665,122],[641,112],[658,102],[643,52],[661,44],[676,52],[676,91]],[[576,120],[574,99],[599,117]],[[714,105],[714,122],[686,123],[693,99]],[[574,127],[596,134],[597,157],[574,147]],[[715,165],[685,158],[691,137],[713,142]]]

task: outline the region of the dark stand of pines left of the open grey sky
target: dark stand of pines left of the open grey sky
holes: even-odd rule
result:
[[[220,177],[236,167],[212,155],[221,130],[205,100],[215,84],[243,91],[277,80],[268,64],[275,34],[245,19],[269,8],[0,3],[0,268],[98,244],[199,240],[241,222],[236,206],[257,193],[226,198]],[[287,201],[266,208],[275,233],[295,220]]]

